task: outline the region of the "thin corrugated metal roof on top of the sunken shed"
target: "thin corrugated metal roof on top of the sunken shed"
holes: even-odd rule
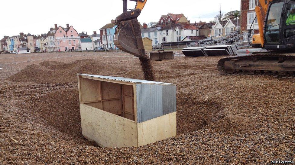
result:
[[[87,75],[87,74],[77,74],[77,75],[87,76],[87,77],[94,77],[94,78],[102,78],[102,79],[106,79],[106,80],[125,81],[125,82],[131,82],[131,83],[174,85],[174,84],[170,84],[170,83],[163,83],[163,82],[156,82],[156,81],[146,81],[146,80],[137,80],[137,79],[123,78],[123,77]]]

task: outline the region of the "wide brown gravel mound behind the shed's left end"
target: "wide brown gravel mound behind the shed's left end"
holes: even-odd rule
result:
[[[78,60],[72,63],[45,61],[38,65],[27,66],[6,80],[55,84],[77,81],[77,73],[113,75],[118,72],[120,72],[120,69],[92,59]]]

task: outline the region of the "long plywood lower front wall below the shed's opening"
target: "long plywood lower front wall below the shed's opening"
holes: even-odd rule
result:
[[[80,104],[82,133],[101,147],[138,146],[137,123]]]

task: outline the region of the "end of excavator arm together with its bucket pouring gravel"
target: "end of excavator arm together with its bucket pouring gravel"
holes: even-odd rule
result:
[[[114,43],[120,50],[133,54],[136,57],[149,59],[145,53],[140,24],[137,20],[147,0],[129,1],[137,2],[135,9],[128,11],[128,0],[123,0],[123,13],[115,21],[117,27],[114,35]]]

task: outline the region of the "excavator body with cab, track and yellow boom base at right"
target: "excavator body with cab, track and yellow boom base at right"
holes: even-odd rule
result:
[[[295,77],[295,0],[259,0],[256,4],[259,35],[254,42],[268,50],[247,56],[222,58],[218,70],[223,75],[271,75]],[[261,11],[266,14],[262,20]]]

